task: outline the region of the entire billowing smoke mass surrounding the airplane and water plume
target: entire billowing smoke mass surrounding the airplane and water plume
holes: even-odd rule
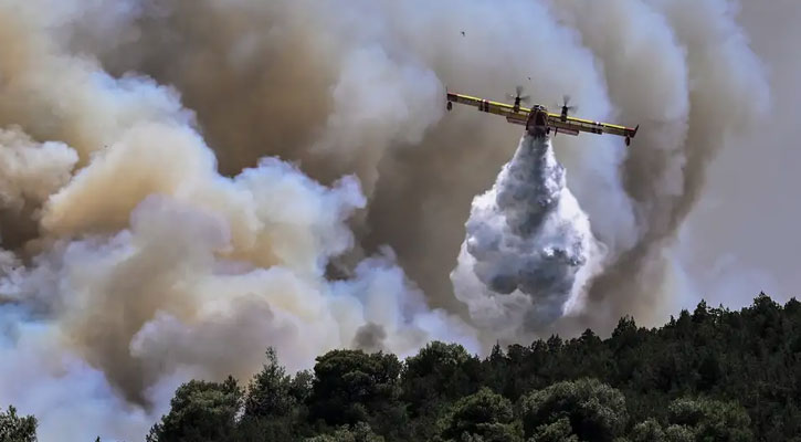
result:
[[[735,12],[0,0],[0,401],[36,413],[44,441],[135,440],[182,380],[247,376],[267,345],[295,369],[339,346],[494,343],[449,274],[520,133],[470,109],[443,118],[445,85],[499,98],[521,83],[641,124],[629,149],[555,141],[562,196],[607,253],[592,308],[548,330],[658,320],[662,250],[708,161],[768,104]]]

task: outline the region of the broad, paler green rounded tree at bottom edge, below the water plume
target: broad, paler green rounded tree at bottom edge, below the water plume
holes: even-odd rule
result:
[[[520,401],[526,438],[540,425],[568,418],[582,441],[612,441],[622,435],[628,421],[623,394],[596,379],[562,381],[534,391]]]

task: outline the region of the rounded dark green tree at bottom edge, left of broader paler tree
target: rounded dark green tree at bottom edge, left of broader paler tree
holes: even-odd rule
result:
[[[512,402],[486,387],[460,399],[441,423],[440,431],[440,439],[444,441],[478,436],[484,442],[514,442],[521,441],[521,435]]]

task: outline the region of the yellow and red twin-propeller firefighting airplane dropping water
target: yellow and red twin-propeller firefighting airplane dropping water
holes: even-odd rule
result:
[[[523,87],[517,86],[517,95],[514,97],[508,95],[509,98],[515,99],[515,104],[509,105],[506,103],[476,98],[468,95],[454,94],[447,91],[447,110],[453,108],[453,103],[475,106],[478,110],[504,116],[509,123],[526,126],[526,130],[534,137],[544,137],[550,134],[551,130],[554,131],[554,135],[567,134],[573,136],[579,135],[580,131],[589,131],[591,134],[612,134],[625,137],[625,145],[629,146],[631,144],[631,139],[634,138],[637,129],[640,129],[640,125],[632,129],[625,126],[569,117],[568,110],[572,110],[575,107],[568,106],[569,98],[567,96],[565,97],[561,114],[548,113],[548,109],[545,106],[538,104],[535,104],[534,107],[527,109],[525,107],[520,107],[520,102],[528,101],[528,96],[520,96],[521,92]]]

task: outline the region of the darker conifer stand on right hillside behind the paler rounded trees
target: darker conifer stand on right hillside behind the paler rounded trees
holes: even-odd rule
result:
[[[801,303],[782,307],[760,294],[740,312],[702,302],[657,329],[623,317],[601,341],[586,333],[510,346],[483,366],[485,385],[512,400],[555,382],[596,378],[625,396],[632,427],[654,418],[666,432],[671,401],[708,397],[739,403],[755,438],[788,440],[801,433],[800,349]]]

